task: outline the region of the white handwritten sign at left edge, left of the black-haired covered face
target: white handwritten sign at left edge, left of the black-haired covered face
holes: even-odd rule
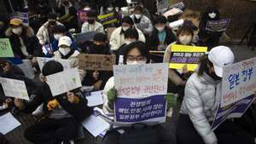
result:
[[[27,101],[29,100],[24,81],[10,78],[0,78],[0,84],[2,84],[5,96],[15,97]]]

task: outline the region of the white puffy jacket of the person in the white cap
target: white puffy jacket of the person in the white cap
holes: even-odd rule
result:
[[[217,138],[211,124],[218,108],[221,94],[221,82],[215,82],[206,73],[199,77],[195,72],[189,78],[181,113],[189,115],[195,130],[206,144],[217,144]]]

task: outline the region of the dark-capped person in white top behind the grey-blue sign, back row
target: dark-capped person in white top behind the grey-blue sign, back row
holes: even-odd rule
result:
[[[96,21],[96,11],[89,11],[87,13],[88,20],[84,22],[81,32],[102,32],[105,33],[104,27],[101,23]]]

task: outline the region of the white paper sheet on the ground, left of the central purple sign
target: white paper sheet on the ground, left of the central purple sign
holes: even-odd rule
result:
[[[97,135],[100,135],[104,130],[107,130],[110,127],[110,124],[108,124],[104,119],[101,117],[96,117],[94,115],[91,115],[89,118],[86,118],[82,125],[86,130],[90,132],[91,135],[94,135],[95,137]]]

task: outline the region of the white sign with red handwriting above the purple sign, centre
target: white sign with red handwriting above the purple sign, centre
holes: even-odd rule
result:
[[[119,96],[145,97],[167,93],[167,63],[113,66],[113,75]]]

